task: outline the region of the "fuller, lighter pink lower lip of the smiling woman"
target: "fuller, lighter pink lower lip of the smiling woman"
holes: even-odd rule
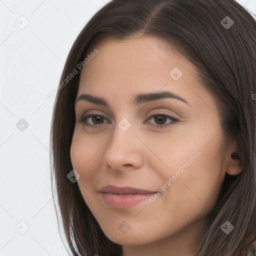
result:
[[[151,195],[154,195],[154,193],[150,194],[129,194],[129,195],[118,195],[118,194],[109,194],[109,193],[103,193],[102,198],[104,202],[106,202],[108,205],[114,207],[114,208],[129,208],[132,207],[139,202],[147,199]]]

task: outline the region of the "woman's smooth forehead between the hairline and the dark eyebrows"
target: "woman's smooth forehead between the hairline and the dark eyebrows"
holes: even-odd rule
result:
[[[94,50],[97,54],[90,54]],[[87,56],[76,99],[90,94],[104,98],[111,109],[119,109],[134,105],[138,94],[169,91],[185,99],[195,111],[213,110],[217,114],[217,102],[198,79],[196,67],[157,38],[107,39],[91,47]],[[182,102],[175,100],[173,104]]]

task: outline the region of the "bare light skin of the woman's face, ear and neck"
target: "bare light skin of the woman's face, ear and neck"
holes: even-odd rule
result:
[[[191,62],[163,41],[143,36],[94,46],[99,52],[82,68],[76,98],[90,93],[107,99],[110,107],[75,102],[70,157],[82,196],[105,235],[123,245],[124,256],[195,255],[225,173],[241,171],[230,157],[236,141],[224,144],[217,102]],[[178,80],[169,75],[174,67],[183,73]],[[156,90],[171,91],[190,106],[173,98],[131,104],[135,94]],[[104,118],[89,117],[91,125],[79,122],[91,112]],[[156,128],[172,121],[150,117],[158,112],[179,121]],[[123,118],[131,124],[125,132],[118,126]],[[101,126],[92,126],[96,123]],[[200,156],[154,202],[119,209],[98,193],[107,184],[157,191],[197,151]],[[118,228],[123,221],[130,227],[126,233]]]

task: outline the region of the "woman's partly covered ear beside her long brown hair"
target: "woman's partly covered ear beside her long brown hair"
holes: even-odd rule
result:
[[[239,174],[242,167],[242,157],[238,150],[236,140],[233,140],[227,148],[227,165],[226,165],[226,173],[229,175],[237,175]]]

